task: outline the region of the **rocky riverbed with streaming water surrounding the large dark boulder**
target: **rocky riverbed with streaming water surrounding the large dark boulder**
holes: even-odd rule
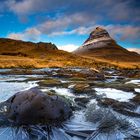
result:
[[[2,116],[7,109],[3,103],[15,93],[25,93],[31,88],[39,90],[45,98],[62,98],[72,113],[66,117],[67,113],[62,111],[66,119],[57,125],[53,125],[55,120],[53,124],[42,120],[32,124],[32,119],[28,122],[27,118],[28,124],[9,123]],[[0,69],[0,102],[2,140],[140,139],[139,70]]]

